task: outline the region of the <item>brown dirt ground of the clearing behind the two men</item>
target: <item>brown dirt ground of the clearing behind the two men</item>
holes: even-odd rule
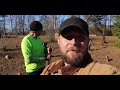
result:
[[[20,72],[25,74],[24,60],[21,53],[20,43],[22,36],[18,38],[5,39],[6,51],[0,51],[0,75],[18,75]],[[47,37],[41,36],[43,41],[48,41]],[[113,45],[118,39],[113,36],[106,36],[105,45],[102,47],[101,36],[90,36],[92,42],[89,53],[95,61],[110,64],[120,70],[120,49]],[[48,43],[53,48],[51,62],[60,58],[57,42]],[[9,55],[10,59],[5,59]]]

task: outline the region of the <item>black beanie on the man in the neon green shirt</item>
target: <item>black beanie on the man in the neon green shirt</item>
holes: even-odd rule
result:
[[[39,21],[33,21],[31,24],[30,24],[30,31],[38,31],[38,30],[42,30],[43,29],[43,26],[42,24],[39,22]]]

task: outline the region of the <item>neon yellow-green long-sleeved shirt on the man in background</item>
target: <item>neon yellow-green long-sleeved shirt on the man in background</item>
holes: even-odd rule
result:
[[[34,72],[45,66],[45,47],[40,37],[27,35],[21,42],[26,72]]]

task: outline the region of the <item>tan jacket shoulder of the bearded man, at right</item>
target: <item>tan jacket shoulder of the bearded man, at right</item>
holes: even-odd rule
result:
[[[76,75],[114,75],[120,71],[108,64],[91,62],[86,67],[80,68]]]

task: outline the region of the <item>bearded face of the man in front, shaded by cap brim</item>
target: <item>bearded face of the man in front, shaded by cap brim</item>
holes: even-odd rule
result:
[[[66,29],[58,38],[62,59],[67,64],[79,65],[88,52],[89,38],[81,31]]]

